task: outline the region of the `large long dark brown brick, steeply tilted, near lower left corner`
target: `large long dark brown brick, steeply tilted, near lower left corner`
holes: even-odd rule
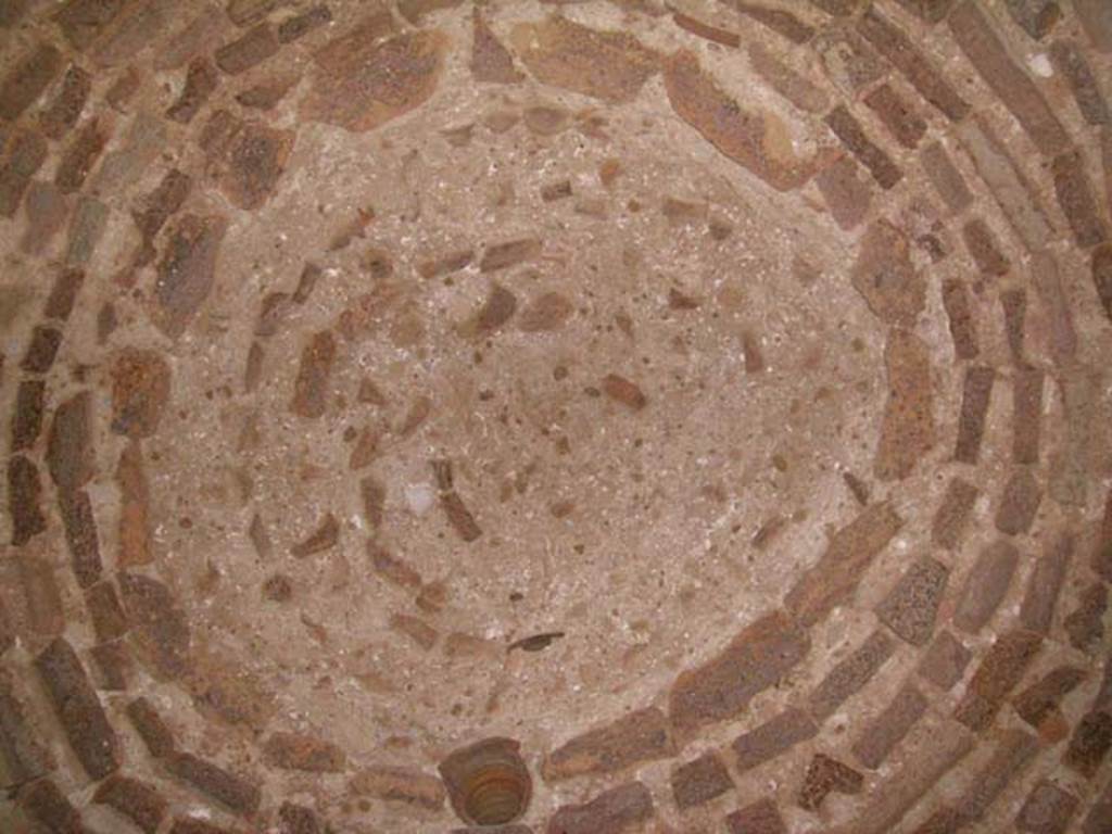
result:
[[[118,770],[120,745],[116,733],[70,644],[58,637],[34,658],[34,666],[86,773],[102,780]]]

